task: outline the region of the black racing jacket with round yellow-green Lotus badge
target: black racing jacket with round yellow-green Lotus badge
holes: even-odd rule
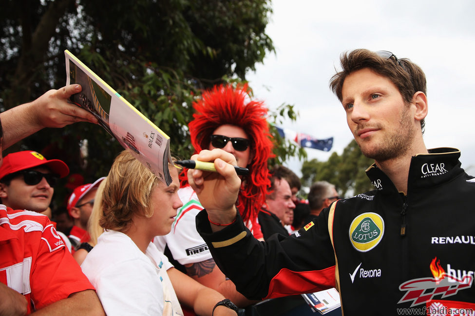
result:
[[[287,238],[259,242],[242,220],[212,233],[206,210],[197,229],[248,298],[336,286],[345,315],[475,315],[475,179],[459,157],[413,157],[407,195],[372,165],[376,190],[334,202]]]

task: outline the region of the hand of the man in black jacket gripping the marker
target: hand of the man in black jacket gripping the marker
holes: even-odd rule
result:
[[[236,203],[241,179],[234,170],[236,158],[221,149],[203,150],[192,160],[214,161],[216,172],[188,171],[188,182],[214,223],[229,224],[236,218]]]

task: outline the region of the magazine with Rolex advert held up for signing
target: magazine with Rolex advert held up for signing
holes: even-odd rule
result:
[[[69,51],[66,85],[79,84],[82,91],[70,101],[88,110],[121,145],[133,152],[161,181],[170,185],[170,137],[121,97]]]

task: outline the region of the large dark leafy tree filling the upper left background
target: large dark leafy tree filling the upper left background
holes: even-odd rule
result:
[[[245,81],[274,52],[265,33],[271,13],[270,0],[6,0],[2,110],[64,86],[68,49],[167,133],[172,153],[189,157],[192,101],[203,88]],[[279,111],[271,123],[296,117],[290,105]],[[281,139],[276,145],[277,159],[298,152]],[[40,131],[9,152],[25,149],[63,159],[71,173],[93,181],[107,174],[121,147],[99,126],[76,123]]]

